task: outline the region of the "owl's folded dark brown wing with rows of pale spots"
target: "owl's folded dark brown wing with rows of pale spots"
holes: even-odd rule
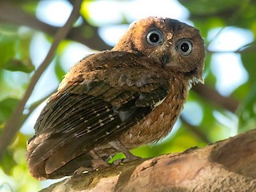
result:
[[[30,167],[46,161],[46,174],[118,139],[166,97],[167,78],[154,62],[106,52],[74,66],[42,110],[28,145]]]

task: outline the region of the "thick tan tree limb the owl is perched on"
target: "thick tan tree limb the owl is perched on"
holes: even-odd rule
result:
[[[66,178],[46,191],[256,191],[256,130]]]

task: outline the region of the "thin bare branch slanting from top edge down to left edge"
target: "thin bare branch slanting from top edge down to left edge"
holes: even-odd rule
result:
[[[70,14],[70,18],[68,18],[66,24],[58,30],[54,38],[54,42],[50,46],[49,53],[46,55],[46,58],[42,62],[41,66],[38,67],[38,70],[34,72],[34,75],[30,80],[30,84],[26,90],[24,97],[18,103],[17,108],[14,110],[14,113],[11,115],[8,122],[6,122],[6,125],[4,126],[0,137],[0,159],[2,158],[2,155],[5,153],[7,146],[10,145],[10,142],[12,142],[15,134],[18,132],[21,126],[22,112],[24,110],[27,100],[30,98],[32,91],[34,90],[34,86],[37,84],[38,79],[41,77],[42,73],[46,70],[46,68],[50,65],[50,62],[54,58],[54,53],[58,48],[58,44],[62,41],[62,39],[66,38],[66,35],[72,28],[74,22],[78,19],[81,3],[82,0],[75,1],[74,8],[72,10],[72,13]]]

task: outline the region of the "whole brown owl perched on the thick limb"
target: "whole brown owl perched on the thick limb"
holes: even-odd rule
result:
[[[199,30],[170,18],[130,25],[112,50],[66,74],[42,110],[27,146],[34,178],[61,178],[109,166],[118,152],[158,142],[174,126],[188,90],[203,82]]]

